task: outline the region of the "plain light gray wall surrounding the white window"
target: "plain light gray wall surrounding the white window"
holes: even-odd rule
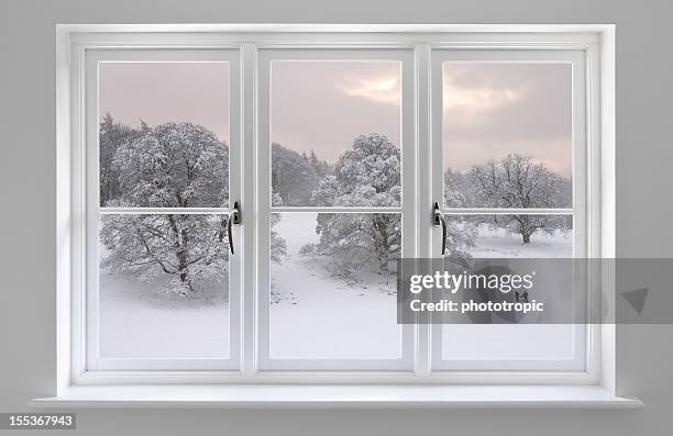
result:
[[[672,2],[108,0],[0,3],[0,412],[55,391],[55,24],[616,23],[620,257],[671,256]],[[671,326],[620,326],[620,394],[639,411],[82,411],[78,434],[670,434]],[[42,433],[41,433],[42,434]]]

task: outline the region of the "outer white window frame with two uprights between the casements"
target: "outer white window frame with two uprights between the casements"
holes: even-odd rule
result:
[[[462,384],[539,384],[531,389],[531,395],[549,395],[540,391],[547,385],[565,384],[583,387],[582,391],[563,391],[562,402],[574,402],[575,393],[594,393],[584,396],[600,404],[619,403],[616,399],[615,381],[615,326],[597,327],[597,335],[592,340],[592,362],[583,371],[440,371],[430,373],[431,369],[431,327],[413,326],[413,371],[261,371],[255,350],[258,318],[258,289],[252,295],[245,295],[241,302],[246,316],[242,323],[242,349],[240,353],[240,371],[90,371],[86,366],[84,342],[85,302],[84,271],[86,259],[84,183],[85,160],[84,144],[84,54],[87,49],[103,47],[124,48],[241,48],[241,159],[243,161],[241,203],[243,216],[245,211],[260,209],[256,198],[260,148],[256,133],[260,108],[257,101],[258,51],[265,47],[276,48],[324,48],[346,47],[365,48],[401,48],[413,53],[415,65],[415,161],[429,163],[431,158],[431,53],[433,47],[445,49],[573,49],[583,51],[587,71],[587,148],[588,175],[591,191],[587,202],[598,210],[599,230],[589,239],[595,257],[615,257],[615,27],[614,25],[309,25],[309,24],[185,24],[185,25],[112,25],[112,24],[64,24],[57,26],[57,396],[64,399],[74,395],[73,389],[88,384],[180,384],[180,383],[332,383],[351,382],[361,387],[385,384],[398,398],[397,403],[423,402],[417,393],[400,395],[393,385],[427,384],[438,382],[449,387]],[[233,139],[230,141],[233,143]],[[418,164],[416,164],[418,165]],[[431,241],[434,232],[423,221],[430,215],[432,202],[431,180],[428,174],[415,175],[415,236],[416,254],[431,254]],[[429,171],[430,172],[430,171]],[[233,197],[230,199],[235,201]],[[593,212],[592,212],[593,213]],[[595,216],[595,215],[594,215]],[[238,235],[243,241],[241,264],[243,280],[256,283],[257,271],[255,232],[257,225],[243,226]],[[252,280],[252,281],[249,281]],[[603,289],[614,295],[614,271],[602,271]],[[610,303],[609,298],[607,301]],[[446,388],[449,389],[449,388]],[[561,392],[565,393],[561,393]],[[82,401],[89,396],[77,391]],[[315,395],[320,396],[320,393]],[[333,390],[332,390],[333,392]],[[347,402],[351,391],[346,391],[341,401]],[[353,391],[355,392],[355,391]],[[374,392],[374,391],[371,391]],[[383,398],[387,393],[376,391]],[[411,392],[411,391],[409,391]],[[419,391],[420,392],[420,391]],[[423,391],[426,392],[426,391]],[[442,391],[444,392],[444,391]],[[450,391],[445,391],[450,392]],[[446,393],[446,395],[455,394]],[[506,391],[489,391],[492,400],[509,395]],[[570,393],[569,393],[570,392]],[[465,392],[463,392],[465,393]],[[427,394],[427,392],[424,393]],[[470,396],[472,393],[466,393]],[[75,396],[77,396],[75,395]],[[102,395],[102,396],[101,396]],[[173,395],[173,396],[172,396]],[[397,395],[397,396],[396,396]],[[422,396],[423,394],[421,394]],[[578,394],[580,396],[584,394]],[[75,398],[71,396],[71,398]],[[111,391],[97,391],[91,398],[112,399]],[[123,395],[122,395],[123,396]],[[216,395],[217,396],[217,395]],[[235,395],[234,395],[235,396]],[[253,395],[254,396],[254,395]],[[273,395],[272,395],[273,396]],[[339,395],[336,395],[339,396]],[[441,395],[440,395],[441,396]],[[528,398],[527,395],[525,395]],[[189,401],[189,395],[172,394],[166,398],[176,401]],[[478,395],[476,396],[478,401]],[[187,399],[187,400],[186,400]],[[377,402],[374,395],[372,402]],[[415,400],[416,399],[416,400]],[[443,399],[443,400],[442,400]],[[240,398],[213,400],[217,402],[245,402]],[[250,399],[249,399],[250,400]],[[385,400],[385,399],[384,399]],[[618,401],[619,400],[619,401]],[[158,401],[158,400],[157,400]],[[253,400],[250,400],[253,401]],[[255,400],[256,401],[256,400]],[[262,400],[260,400],[262,401]],[[279,400],[280,401],[280,400]],[[336,400],[335,400],[336,401]],[[351,398],[351,401],[356,401]],[[437,402],[451,402],[448,398],[437,398]],[[499,401],[499,400],[496,400]],[[264,402],[264,401],[262,401]],[[395,401],[394,401],[395,402]]]

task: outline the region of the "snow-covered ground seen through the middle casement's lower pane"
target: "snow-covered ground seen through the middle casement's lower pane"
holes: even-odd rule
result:
[[[401,326],[397,324],[395,276],[365,275],[346,283],[330,276],[329,259],[300,256],[317,243],[315,213],[285,213],[278,233],[288,257],[272,266],[272,358],[398,358]]]

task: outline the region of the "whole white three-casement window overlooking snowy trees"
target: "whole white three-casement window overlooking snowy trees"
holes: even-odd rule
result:
[[[70,32],[67,377],[597,383],[602,326],[396,312],[434,202],[449,255],[610,255],[597,32]]]

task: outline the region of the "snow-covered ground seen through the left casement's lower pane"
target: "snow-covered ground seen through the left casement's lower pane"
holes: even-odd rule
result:
[[[100,275],[100,357],[228,358],[229,304],[210,299],[166,300],[150,284],[122,275]]]

